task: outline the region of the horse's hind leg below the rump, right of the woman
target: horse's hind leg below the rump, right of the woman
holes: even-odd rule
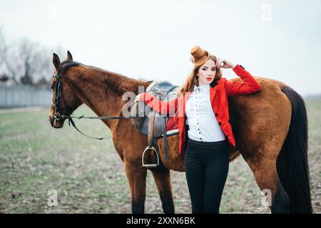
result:
[[[260,151],[256,153],[255,156],[245,155],[243,157],[245,157],[245,161],[250,165],[260,190],[263,192],[265,192],[265,190],[269,190],[271,197],[271,204],[269,204],[269,206],[272,214],[288,213],[289,197],[277,175],[277,157],[273,155],[273,152]],[[267,194],[269,192],[267,192]]]

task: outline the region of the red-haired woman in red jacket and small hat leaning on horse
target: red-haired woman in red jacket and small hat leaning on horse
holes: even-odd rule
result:
[[[141,93],[136,100],[143,100],[159,113],[174,111],[166,130],[179,129],[179,153],[185,152],[192,212],[218,213],[228,176],[228,147],[235,147],[228,96],[255,93],[261,87],[243,66],[216,58],[199,46],[195,46],[191,54],[194,68],[177,98],[164,103]],[[220,68],[233,68],[243,82],[222,78]]]

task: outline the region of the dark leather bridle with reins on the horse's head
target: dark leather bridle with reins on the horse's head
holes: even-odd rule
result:
[[[139,116],[128,116],[128,117],[124,117],[124,116],[84,116],[84,115],[80,115],[80,116],[71,116],[71,115],[61,115],[61,113],[59,113],[58,109],[59,109],[59,98],[61,95],[61,98],[63,99],[63,103],[65,103],[66,109],[68,109],[68,105],[66,103],[66,100],[63,98],[63,93],[62,93],[62,89],[61,89],[61,76],[62,76],[62,69],[60,69],[58,71],[58,73],[54,73],[52,78],[57,78],[56,81],[56,85],[54,88],[54,91],[56,93],[55,95],[55,100],[54,103],[51,100],[51,105],[54,106],[55,108],[55,115],[54,115],[54,119],[55,120],[63,120],[63,119],[68,119],[68,125],[70,126],[73,125],[73,128],[76,128],[76,130],[78,130],[79,133],[81,133],[82,135],[85,135],[88,138],[92,138],[95,140],[105,140],[108,138],[111,138],[111,136],[106,137],[106,138],[95,138],[95,137],[91,137],[89,135],[86,135],[85,133],[82,133],[77,127],[75,122],[73,121],[73,118],[78,118],[78,120],[80,119],[99,119],[99,120],[110,120],[110,119],[129,119],[129,118],[141,118]],[[56,114],[58,114],[58,117],[56,116]]]

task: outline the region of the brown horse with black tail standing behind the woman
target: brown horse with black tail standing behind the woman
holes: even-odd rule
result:
[[[73,61],[60,62],[54,54],[55,77],[51,81],[53,103],[49,120],[54,128],[62,128],[64,119],[79,105],[86,104],[98,116],[122,116],[125,92],[138,93],[138,81],[118,73],[103,71]],[[60,75],[61,90],[57,90]],[[242,155],[250,166],[261,190],[271,192],[272,213],[310,213],[309,167],[307,162],[307,114],[301,96],[280,81],[256,77],[262,89],[252,95],[229,98],[230,120],[236,147],[230,147],[230,161]],[[239,78],[233,81],[240,81]],[[56,89],[55,89],[56,88]],[[57,93],[57,94],[56,94]],[[58,96],[57,96],[58,95]],[[147,137],[139,133],[130,119],[102,120],[112,133],[113,144],[125,165],[131,189],[132,212],[143,213],[146,198],[147,169],[141,156]],[[163,211],[174,212],[169,170],[184,171],[178,156],[178,135],[168,138],[168,163],[164,162],[163,140],[158,141],[163,164],[150,168],[158,188]]]

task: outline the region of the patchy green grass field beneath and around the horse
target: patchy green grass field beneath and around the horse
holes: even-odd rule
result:
[[[321,213],[321,100],[307,100],[312,204]],[[48,110],[0,114],[1,213],[131,213],[123,163],[111,140],[91,140],[65,123],[51,128]],[[77,114],[93,115],[86,106]],[[108,136],[100,120],[78,120],[89,135]],[[171,171],[176,213],[190,213],[184,172]],[[163,213],[148,172],[146,213]],[[49,190],[58,204],[49,206]],[[221,213],[270,213],[242,157],[230,163]]]

